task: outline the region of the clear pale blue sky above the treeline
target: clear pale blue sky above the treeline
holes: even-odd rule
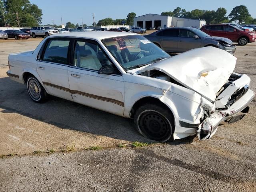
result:
[[[153,13],[161,14],[163,11],[173,11],[176,7],[191,11],[194,9],[217,10],[224,7],[228,14],[235,6],[245,5],[249,14],[256,18],[256,0],[30,0],[43,10],[43,24],[60,25],[70,21],[74,24],[92,25],[92,14],[95,21],[103,18],[126,18],[129,12],[137,16]]]

